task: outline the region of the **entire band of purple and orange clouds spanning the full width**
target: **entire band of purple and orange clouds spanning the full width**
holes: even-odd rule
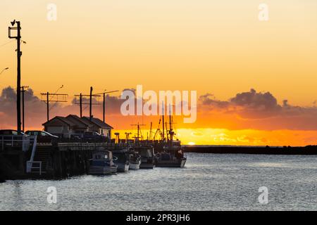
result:
[[[129,89],[131,90],[131,89]],[[102,101],[101,99],[99,99]],[[0,96],[0,129],[14,128],[16,124],[16,93],[8,86],[3,89]],[[82,99],[89,103],[89,98]],[[118,96],[106,95],[106,122],[116,129],[130,129],[130,124],[144,122],[156,124],[158,116],[154,117],[124,117],[120,114],[120,106],[125,100]],[[69,105],[50,105],[50,118],[69,114],[79,115],[80,106],[78,98],[72,99]],[[93,103],[99,103],[93,98]],[[94,117],[102,118],[102,102],[93,105]],[[89,115],[89,105],[83,105],[83,115]],[[292,105],[287,100],[280,104],[270,92],[258,92],[255,89],[238,93],[227,101],[216,99],[213,94],[207,93],[199,97],[197,105],[197,122],[194,124],[181,124],[181,117],[174,117],[178,128],[223,128],[223,129],[298,129],[317,130],[317,108]],[[25,92],[25,124],[27,129],[42,129],[46,121],[46,103],[34,95],[32,89]],[[193,134],[199,136],[198,133]]]

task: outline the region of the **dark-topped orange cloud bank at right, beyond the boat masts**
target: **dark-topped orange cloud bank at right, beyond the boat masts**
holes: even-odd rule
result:
[[[317,129],[316,107],[290,105],[287,100],[280,105],[270,92],[254,89],[228,101],[219,101],[213,94],[200,96],[199,113],[213,120],[210,126],[225,124],[228,129]]]

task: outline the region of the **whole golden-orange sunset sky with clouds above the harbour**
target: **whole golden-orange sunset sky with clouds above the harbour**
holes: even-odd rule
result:
[[[57,20],[46,19],[47,4]],[[268,5],[260,21],[259,4]],[[317,143],[317,1],[315,0],[1,0],[0,129],[15,127],[15,41],[21,21],[22,84],[30,86],[27,128],[42,129],[37,97],[63,84],[73,95],[135,89],[196,90],[197,122],[175,118],[182,143],[304,146]],[[13,89],[8,89],[8,86]],[[157,117],[123,117],[118,95],[107,98],[107,122],[121,130]],[[87,114],[87,109],[85,114]],[[101,108],[94,107],[101,116]],[[146,133],[147,131],[144,130]],[[124,136],[122,134],[122,136]]]

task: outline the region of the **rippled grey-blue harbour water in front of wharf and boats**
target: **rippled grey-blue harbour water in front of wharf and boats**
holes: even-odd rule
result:
[[[6,181],[0,210],[317,210],[317,156],[187,154],[185,168]],[[57,203],[46,201],[49,186]],[[268,188],[268,204],[258,201]]]

